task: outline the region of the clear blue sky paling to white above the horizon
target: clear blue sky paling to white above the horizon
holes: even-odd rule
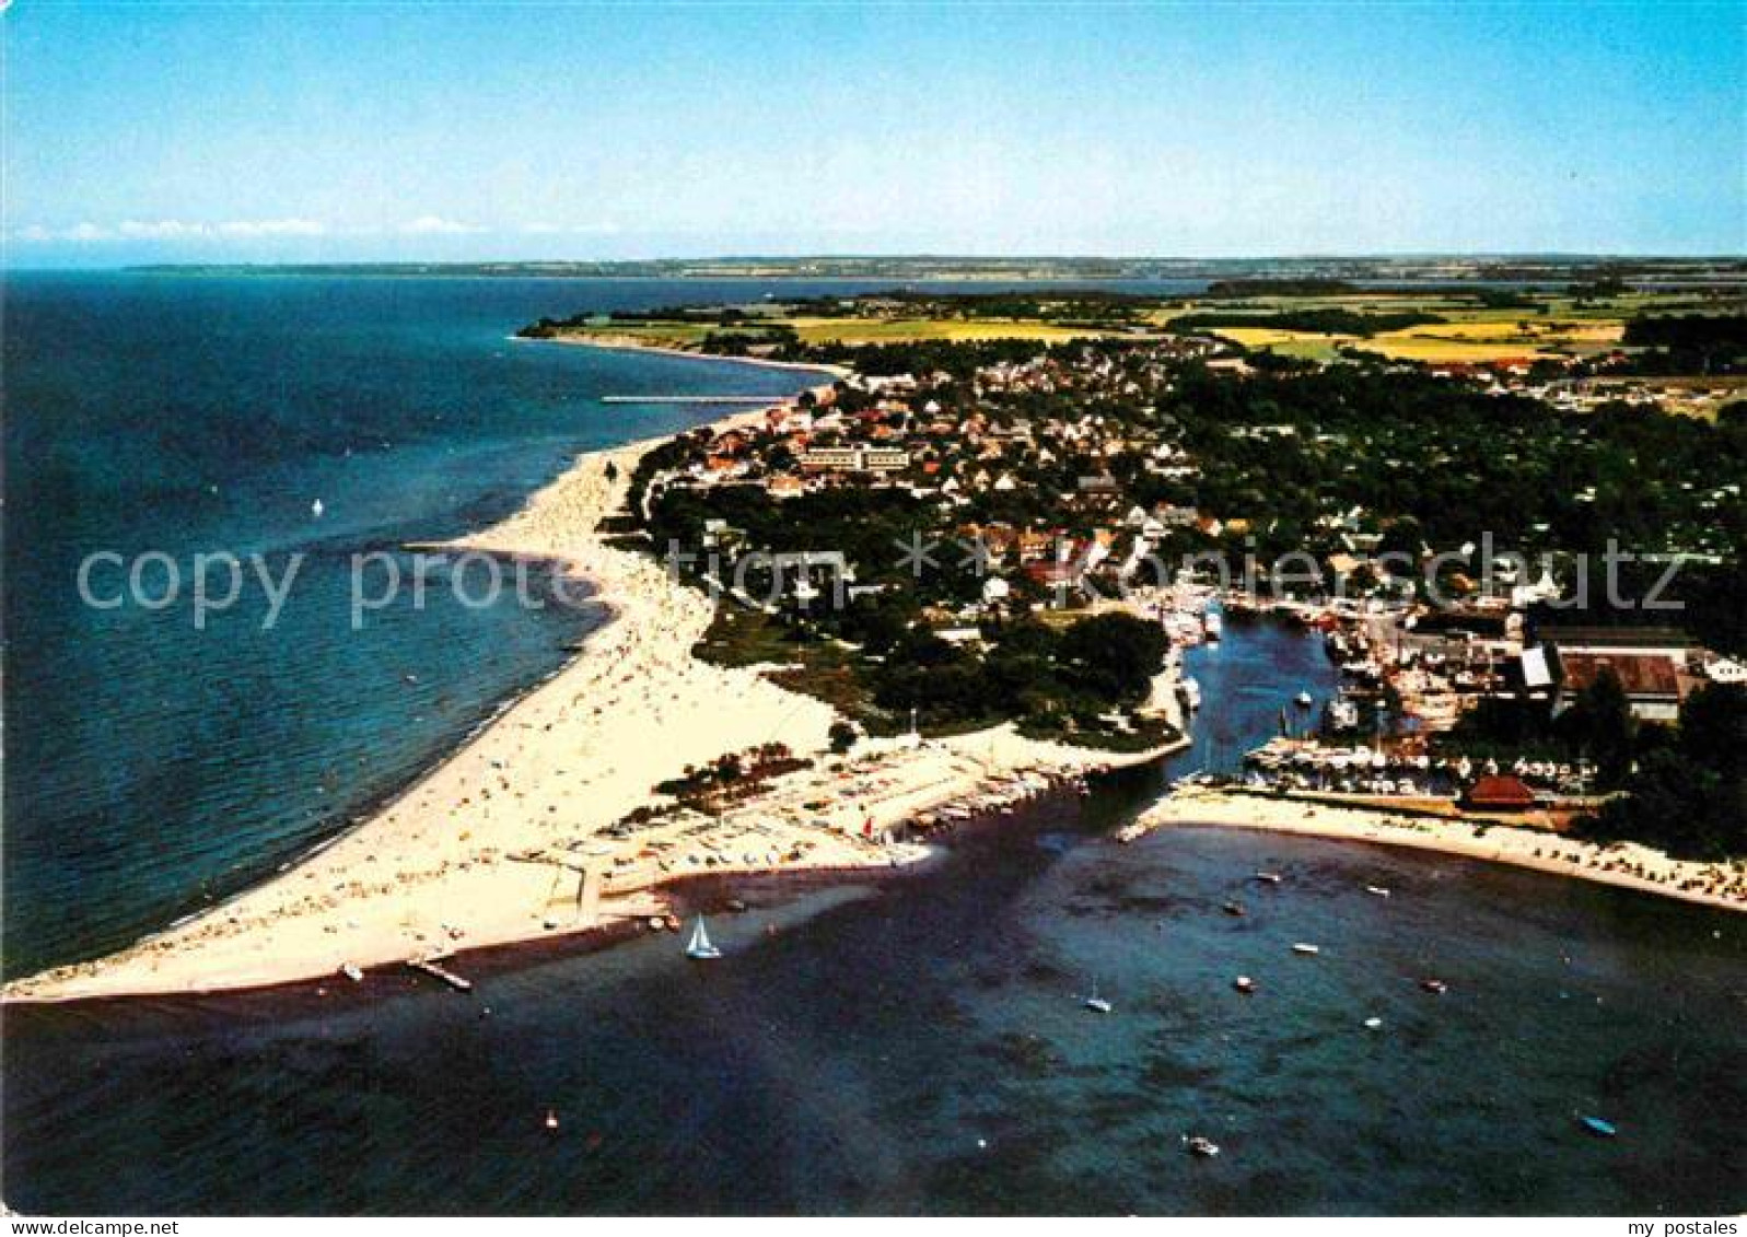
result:
[[[14,0],[7,262],[1742,253],[1744,28],[1744,0]]]

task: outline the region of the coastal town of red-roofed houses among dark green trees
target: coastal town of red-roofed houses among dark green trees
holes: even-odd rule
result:
[[[886,306],[875,301],[875,309]],[[1053,309],[1085,306],[1067,295]],[[945,313],[940,302],[929,311]],[[1719,335],[1724,344],[1707,363],[1721,356],[1717,369],[1728,370],[1738,363],[1740,344],[1728,342],[1738,328],[1723,330],[1735,334]],[[837,349],[769,351],[840,358]],[[1733,547],[1744,531],[1740,414],[1724,412],[1714,426],[1693,419],[1686,404],[1658,404],[1656,384],[1569,377],[1649,369],[1642,353],[1611,348],[1560,365],[1343,362],[1368,370],[1356,383],[1452,414],[1387,433],[1303,416],[1198,425],[1193,397],[1212,384],[1268,383],[1277,367],[1270,353],[1219,337],[1043,349],[1012,341],[865,346],[854,360],[830,388],[762,421],[683,435],[652,453],[625,529],[632,543],[666,545],[681,575],[727,601],[701,646],[706,657],[781,660],[774,678],[844,708],[868,732],[891,732],[905,716],[914,725],[917,713],[924,725],[950,729],[1005,711],[1022,730],[1053,739],[1169,750],[1198,704],[1198,685],[1179,671],[1183,650],[1218,641],[1226,622],[1284,622],[1322,634],[1340,688],[1282,704],[1279,736],[1244,757],[1233,793],[1481,832],[1605,835],[1612,846],[1642,835],[1642,812],[1633,818],[1626,807],[1633,744],[1672,758],[1654,748],[1682,716],[1688,730],[1717,727],[1723,746],[1738,732],[1747,664],[1740,615],[1730,612],[1740,594],[1728,580],[1733,571],[1738,582]],[[903,362],[914,363],[900,369]],[[1293,383],[1315,383],[1319,369],[1279,377],[1282,398],[1270,407],[1284,404]],[[1670,390],[1691,398],[1733,388],[1717,379]],[[1232,407],[1228,397],[1223,404]],[[1464,418],[1478,425],[1464,426]],[[1572,594],[1597,585],[1586,561],[1599,545],[1595,517],[1623,500],[1607,493],[1609,430],[1642,433],[1646,418],[1653,430],[1693,439],[1675,444],[1668,519],[1646,529],[1646,563],[1656,564],[1661,587],[1688,570],[1705,584],[1686,580],[1691,606],[1674,599],[1675,587],[1660,610],[1647,605],[1621,620]],[[1345,418],[1328,418],[1336,419]],[[1324,482],[1300,486],[1286,505],[1254,487],[1258,472],[1300,453],[1343,456],[1349,475],[1366,477],[1368,456],[1399,470],[1410,454],[1426,454],[1427,439],[1452,470],[1464,456],[1511,444],[1504,454],[1523,472],[1532,454],[1557,460],[1562,472],[1588,456],[1597,480],[1572,486],[1571,508],[1550,512],[1553,519],[1515,503],[1515,519],[1443,550],[1433,535],[1459,524],[1440,519],[1424,496],[1349,503],[1352,489]],[[1707,451],[1703,473],[1682,458],[1695,447]],[[1380,451],[1391,454],[1377,458]],[[1646,461],[1632,479],[1633,501],[1654,491],[1656,472]],[[734,564],[732,584],[725,563]],[[1654,622],[1670,610],[1696,610],[1709,643]],[[1148,690],[1136,681],[1106,699],[1050,699],[1034,666],[1029,695],[1003,692],[1010,645],[1036,650],[1046,643],[1038,632],[1071,632],[1108,615],[1165,632]],[[917,662],[926,676],[901,673]],[[1684,711],[1695,695],[1698,706]],[[1724,716],[1705,720],[1710,713]],[[1714,802],[1689,804],[1714,828],[1646,839],[1709,860],[1702,870],[1660,870],[1642,858],[1583,861],[1646,886],[1738,900],[1747,893],[1738,818],[1730,816],[1738,793],[1730,781]],[[1529,847],[1523,858],[1543,851],[1553,853]]]

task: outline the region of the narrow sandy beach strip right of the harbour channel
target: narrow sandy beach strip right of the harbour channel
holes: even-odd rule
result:
[[[1200,784],[1177,786],[1139,819],[1141,830],[1172,825],[1225,825],[1349,842],[1413,846],[1728,910],[1747,910],[1747,863],[1672,860],[1633,842],[1599,846],[1513,825],[1476,826],[1471,821]]]

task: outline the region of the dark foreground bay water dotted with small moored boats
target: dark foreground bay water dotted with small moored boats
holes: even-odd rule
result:
[[[7,1199],[84,1213],[1747,1202],[1737,917],[1380,847],[1088,837],[1132,795],[1039,809],[877,886],[784,902],[741,884],[753,910],[713,919],[727,954],[713,966],[653,935],[470,959],[473,996],[393,973],[325,996],[12,1010]],[[1246,881],[1261,863],[1284,884]],[[1221,914],[1230,896],[1251,914]],[[1295,956],[1295,940],[1322,954]],[[1261,991],[1233,992],[1237,973]],[[1422,992],[1427,973],[1450,992]],[[1109,1017],[1078,1005],[1094,980]],[[1585,1134],[1579,1113],[1621,1136]],[[1188,1157],[1197,1132],[1225,1153]]]

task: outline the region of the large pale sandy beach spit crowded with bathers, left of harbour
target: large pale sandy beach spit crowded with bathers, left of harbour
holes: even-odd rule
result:
[[[830,706],[755,669],[694,659],[713,601],[596,535],[652,446],[583,454],[519,514],[447,547],[550,561],[596,587],[611,620],[563,671],[374,818],[278,877],[122,952],[14,980],[5,998],[260,987],[583,931],[666,912],[662,884],[688,875],[905,863],[926,851],[879,839],[921,812],[1031,793],[1043,783],[1017,781],[1027,771],[1146,758],[1034,743],[1010,729],[921,744],[865,741],[847,760],[832,757]],[[688,765],[765,743],[812,767],[722,816],[681,814],[629,837],[604,832],[638,807],[669,802],[652,788]]]

